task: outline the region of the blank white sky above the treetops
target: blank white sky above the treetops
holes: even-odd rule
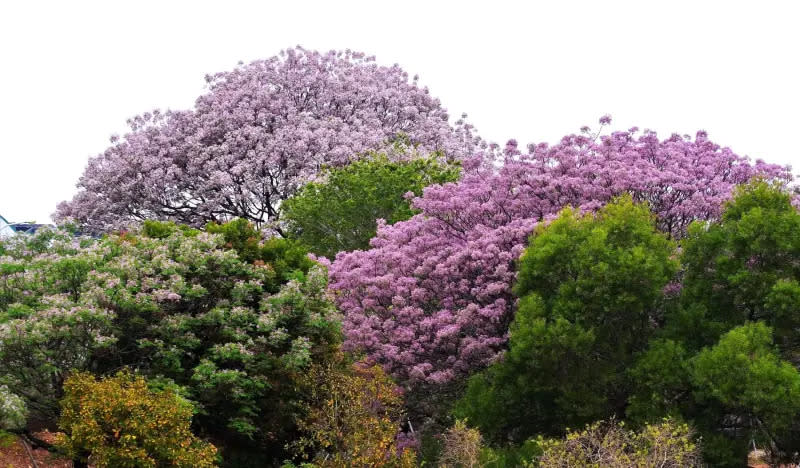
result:
[[[298,44],[399,63],[488,140],[555,142],[610,113],[800,168],[798,19],[788,0],[0,0],[0,214],[49,222],[128,117]]]

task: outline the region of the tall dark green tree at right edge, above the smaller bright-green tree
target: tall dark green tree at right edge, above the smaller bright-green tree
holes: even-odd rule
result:
[[[740,187],[721,222],[691,226],[683,263],[682,308],[670,323],[675,336],[699,349],[748,320],[764,320],[784,356],[794,355],[800,213],[789,193],[767,182]]]

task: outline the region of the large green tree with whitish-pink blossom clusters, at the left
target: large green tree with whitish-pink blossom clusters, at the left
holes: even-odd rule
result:
[[[0,326],[2,383],[52,421],[69,371],[130,366],[182,388],[200,433],[223,449],[279,456],[297,437],[297,376],[332,356],[338,314],[326,272],[291,241],[256,242],[241,250],[257,257],[247,263],[233,248],[252,228],[219,229],[150,223],[145,234],[86,246],[14,247],[3,279],[18,282],[22,302],[4,310],[16,318]],[[74,283],[53,279],[67,264],[90,271]]]

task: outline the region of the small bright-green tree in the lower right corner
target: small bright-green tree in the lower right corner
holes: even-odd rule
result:
[[[796,451],[787,438],[800,412],[800,373],[780,359],[764,323],[727,332],[691,358],[689,370],[694,419],[704,438],[714,441],[708,461],[741,466],[751,440],[776,459]]]

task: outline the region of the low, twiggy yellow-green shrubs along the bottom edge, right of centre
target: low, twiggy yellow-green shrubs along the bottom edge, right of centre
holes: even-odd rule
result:
[[[682,468],[701,466],[688,425],[665,419],[641,431],[614,421],[594,423],[564,439],[540,440],[537,464],[547,468]]]

